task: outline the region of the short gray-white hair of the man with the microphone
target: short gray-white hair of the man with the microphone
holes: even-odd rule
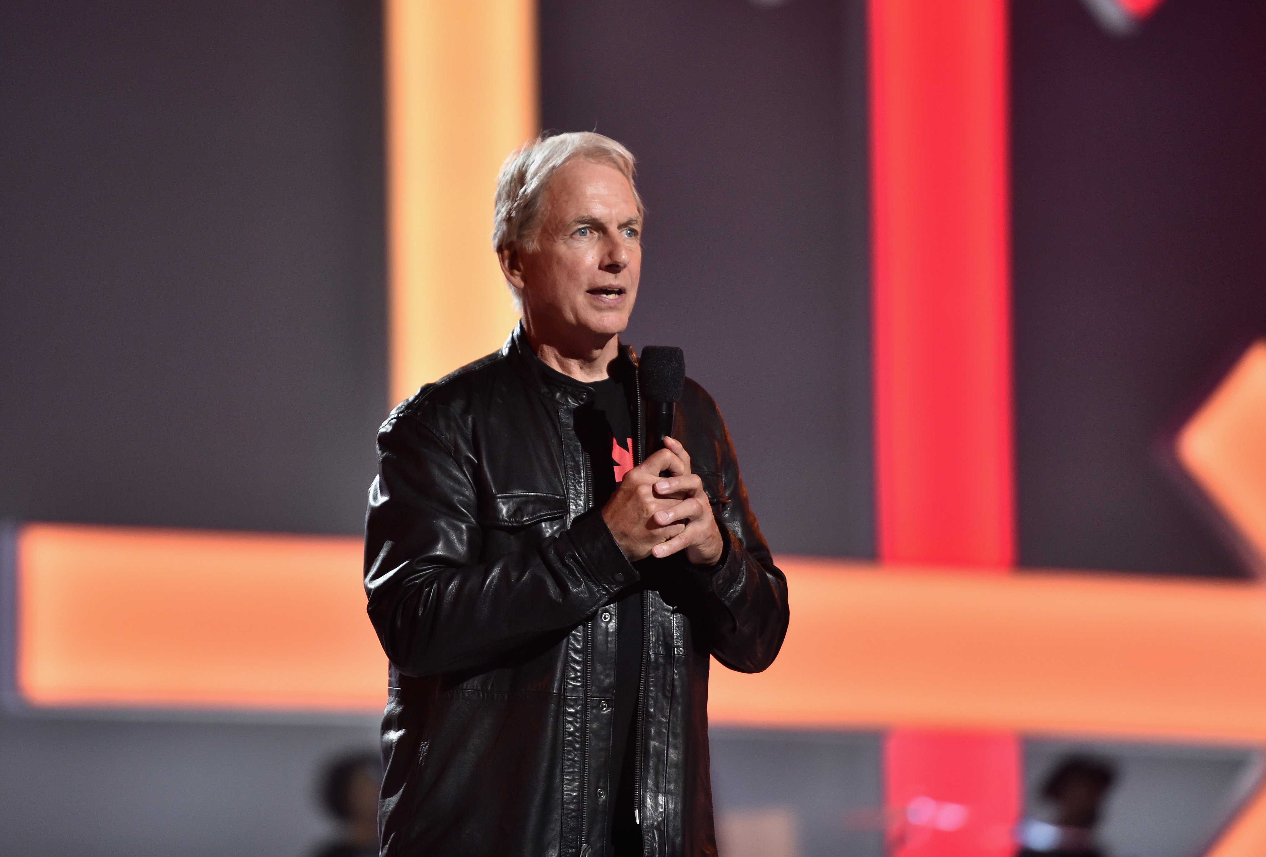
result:
[[[510,244],[527,249],[536,247],[541,227],[541,203],[546,187],[558,170],[573,158],[605,163],[628,178],[637,213],[646,216],[642,197],[633,182],[633,153],[613,141],[590,130],[547,137],[542,134],[524,143],[505,160],[496,177],[496,208],[492,216],[492,247],[498,252]],[[515,294],[514,290],[510,290]]]

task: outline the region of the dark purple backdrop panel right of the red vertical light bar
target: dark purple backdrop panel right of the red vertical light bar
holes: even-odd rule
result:
[[[1020,561],[1241,575],[1152,446],[1266,334],[1266,5],[1012,14]]]

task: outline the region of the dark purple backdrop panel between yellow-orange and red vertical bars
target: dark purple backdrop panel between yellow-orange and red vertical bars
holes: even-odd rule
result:
[[[685,348],[785,553],[875,551],[863,9],[541,3],[542,125],[639,160],[628,338]]]

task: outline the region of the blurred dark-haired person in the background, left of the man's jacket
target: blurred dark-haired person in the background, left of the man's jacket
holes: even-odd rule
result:
[[[341,828],[314,857],[377,857],[379,786],[382,763],[372,752],[347,753],[327,765],[320,780],[322,809]]]

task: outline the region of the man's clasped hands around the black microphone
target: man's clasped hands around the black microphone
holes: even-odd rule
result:
[[[672,438],[665,448],[624,475],[603,508],[603,520],[630,561],[666,557],[685,548],[686,558],[714,565],[724,542],[703,481],[690,472],[690,454]],[[670,476],[661,479],[660,473]]]

